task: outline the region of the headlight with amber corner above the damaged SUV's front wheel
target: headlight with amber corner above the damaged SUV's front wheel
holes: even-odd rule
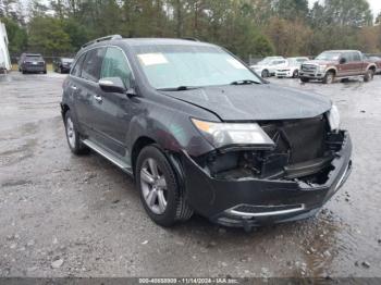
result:
[[[192,119],[193,124],[216,148],[231,145],[255,145],[269,149],[274,146],[272,139],[255,123],[216,123]]]

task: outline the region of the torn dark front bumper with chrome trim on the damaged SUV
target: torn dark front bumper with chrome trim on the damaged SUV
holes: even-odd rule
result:
[[[217,179],[182,153],[186,199],[199,214],[228,226],[259,226],[314,215],[344,184],[352,170],[352,141],[344,135],[323,185],[282,179]]]

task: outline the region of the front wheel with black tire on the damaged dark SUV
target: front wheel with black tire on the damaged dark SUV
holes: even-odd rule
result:
[[[142,203],[155,223],[172,226],[192,216],[176,174],[158,147],[148,146],[140,151],[135,173]]]

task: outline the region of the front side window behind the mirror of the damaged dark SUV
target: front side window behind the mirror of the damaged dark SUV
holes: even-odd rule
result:
[[[107,49],[100,78],[119,77],[126,88],[131,87],[132,71],[127,59],[122,50],[110,47]]]

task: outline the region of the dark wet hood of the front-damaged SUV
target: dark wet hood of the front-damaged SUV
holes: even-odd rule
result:
[[[184,91],[161,91],[198,106],[222,121],[271,121],[318,116],[331,109],[320,95],[272,84],[229,85]]]

